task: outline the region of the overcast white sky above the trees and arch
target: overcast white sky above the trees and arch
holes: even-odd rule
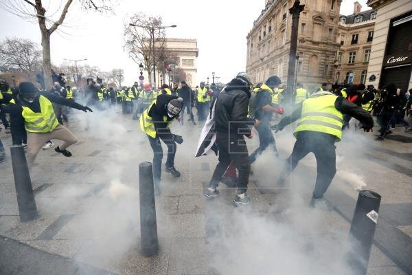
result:
[[[80,0],[73,2],[76,1]],[[54,6],[60,3],[58,0],[43,0],[43,3],[49,2],[52,4],[46,15],[59,8],[59,5]],[[341,14],[352,14],[353,2],[343,0]],[[366,0],[359,2],[363,10],[368,9]],[[78,5],[72,5],[65,27],[52,34],[52,62],[60,65],[64,58],[87,58],[89,65],[102,70],[123,68],[125,84],[133,85],[139,76],[139,67],[123,51],[123,22],[134,12],[144,12],[160,15],[163,25],[177,25],[177,28],[167,30],[168,37],[197,39],[198,81],[207,76],[211,78],[211,72],[216,72],[222,82],[227,82],[245,69],[246,36],[264,3],[265,0],[117,0],[115,14],[84,12]],[[0,40],[6,37],[41,42],[37,23],[23,21],[0,9]]]

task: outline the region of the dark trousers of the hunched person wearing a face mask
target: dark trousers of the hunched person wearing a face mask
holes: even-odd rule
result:
[[[156,138],[148,135],[150,146],[153,150],[153,180],[159,182],[161,179],[161,159],[163,159],[163,149],[161,148],[162,140],[168,146],[168,159],[166,160],[166,167],[174,166],[174,156],[176,155],[176,142],[172,134],[157,134]]]

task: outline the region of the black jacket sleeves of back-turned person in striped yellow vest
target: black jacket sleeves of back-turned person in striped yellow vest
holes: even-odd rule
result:
[[[313,96],[313,95],[312,95]],[[356,104],[349,102],[346,98],[338,96],[334,103],[336,110],[340,111],[344,115],[350,115],[352,118],[359,120],[361,124],[367,128],[372,128],[374,126],[374,119],[371,117],[370,113],[358,107]],[[302,103],[299,104],[299,107],[293,111],[293,113],[285,118],[283,118],[279,124],[277,124],[277,129],[282,130],[284,127],[292,122],[295,122],[301,118],[302,113]],[[329,135],[327,133],[319,133],[323,135]]]

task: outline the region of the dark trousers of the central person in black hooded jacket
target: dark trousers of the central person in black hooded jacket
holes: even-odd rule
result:
[[[249,174],[251,173],[251,163],[249,162],[249,152],[244,137],[218,132],[216,145],[219,150],[219,163],[216,165],[209,187],[216,188],[218,186],[227,167],[233,161],[239,171],[238,194],[246,192],[249,184]]]

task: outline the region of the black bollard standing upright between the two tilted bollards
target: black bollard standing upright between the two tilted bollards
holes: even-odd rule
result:
[[[150,162],[139,164],[140,242],[141,254],[146,257],[159,252],[153,170]]]

